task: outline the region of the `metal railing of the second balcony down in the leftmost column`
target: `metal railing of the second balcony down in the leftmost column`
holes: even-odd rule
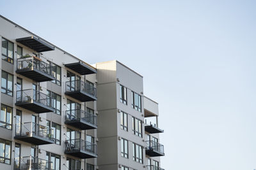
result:
[[[33,101],[33,103],[41,103],[52,108],[53,100],[53,97],[34,89],[17,90],[16,92],[16,103],[30,103]]]

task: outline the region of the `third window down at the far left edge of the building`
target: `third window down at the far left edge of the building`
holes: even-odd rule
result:
[[[0,127],[12,130],[12,108],[1,104]]]

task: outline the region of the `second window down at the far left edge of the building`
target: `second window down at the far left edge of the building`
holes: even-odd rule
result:
[[[1,92],[13,96],[13,75],[2,70],[2,89]]]

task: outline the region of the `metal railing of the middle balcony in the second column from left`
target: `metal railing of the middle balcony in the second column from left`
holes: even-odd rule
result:
[[[84,122],[97,125],[97,116],[81,109],[66,111],[66,121],[71,120],[83,120]]]

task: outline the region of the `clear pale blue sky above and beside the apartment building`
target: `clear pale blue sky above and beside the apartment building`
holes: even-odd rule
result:
[[[166,170],[256,169],[256,1],[0,1],[93,64],[119,60],[159,102]],[[1,26],[1,25],[0,25]]]

